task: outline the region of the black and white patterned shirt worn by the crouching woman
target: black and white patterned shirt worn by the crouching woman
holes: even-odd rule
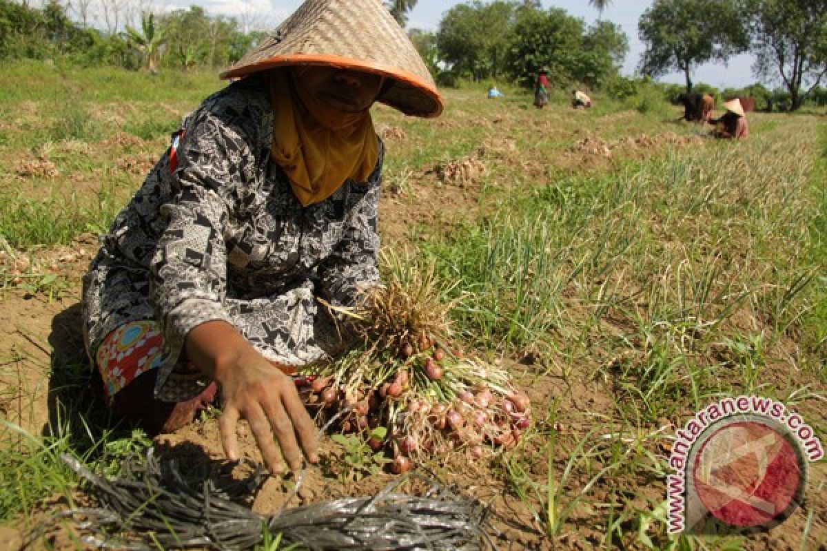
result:
[[[378,281],[384,147],[366,182],[302,207],[270,161],[273,111],[259,77],[208,97],[101,238],[84,277],[88,353],[119,325],[154,319],[165,339],[156,397],[182,401],[207,381],[179,357],[189,330],[234,325],[268,359],[304,365],[338,346],[324,297],[351,304]]]

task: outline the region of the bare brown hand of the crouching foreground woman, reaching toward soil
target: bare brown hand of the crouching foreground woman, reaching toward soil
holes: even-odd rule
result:
[[[227,457],[238,458],[237,424],[246,419],[270,473],[284,469],[274,435],[290,469],[301,468],[303,455],[316,463],[316,426],[293,380],[255,351],[233,363],[215,373],[223,397],[224,411],[218,423]]]

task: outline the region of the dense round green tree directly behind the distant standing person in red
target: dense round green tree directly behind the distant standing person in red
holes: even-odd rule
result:
[[[520,12],[508,40],[508,73],[523,85],[533,85],[543,66],[549,69],[550,82],[567,83],[577,78],[583,64],[589,63],[581,55],[583,21],[560,8]]]

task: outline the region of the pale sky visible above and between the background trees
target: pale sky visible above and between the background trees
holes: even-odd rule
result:
[[[188,7],[196,4],[207,10],[208,13],[223,13],[236,15],[239,13],[259,14],[259,20],[265,26],[275,26],[283,21],[290,13],[301,5],[303,0],[172,0],[165,3],[166,9]],[[408,28],[420,28],[427,31],[437,31],[442,14],[461,3],[470,3],[465,0],[418,0],[416,7],[408,14]],[[643,12],[651,6],[653,0],[614,0],[603,12],[605,21],[619,24],[629,36],[629,54],[626,56],[621,72],[632,76],[643,54],[643,44],[638,37],[638,20]],[[543,8],[562,7],[572,16],[580,17],[587,25],[597,19],[597,10],[590,7],[587,0],[543,0]],[[715,17],[715,14],[710,14]],[[757,78],[752,73],[753,59],[750,55],[739,55],[729,59],[728,64],[704,64],[697,67],[692,80],[695,83],[709,83],[717,88],[741,88]],[[659,80],[663,82],[684,83],[683,74],[668,74]]]

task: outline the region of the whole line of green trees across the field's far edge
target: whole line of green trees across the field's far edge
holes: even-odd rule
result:
[[[0,0],[0,59],[61,56],[149,71],[216,68],[265,36],[251,13],[213,16],[196,6],[161,13],[141,3],[151,0],[60,1],[35,8],[26,0]],[[385,6],[404,26],[416,3],[386,0]],[[494,78],[530,86],[545,67],[559,87],[622,89],[629,37],[603,20],[610,0],[589,3],[598,11],[591,25],[561,8],[543,9],[539,0],[471,0],[447,10],[437,31],[410,29],[409,36],[443,85]],[[698,65],[743,52],[753,54],[753,74],[782,85],[792,109],[823,92],[827,0],[655,0],[638,33],[645,46],[640,73],[680,72],[686,92]]]

